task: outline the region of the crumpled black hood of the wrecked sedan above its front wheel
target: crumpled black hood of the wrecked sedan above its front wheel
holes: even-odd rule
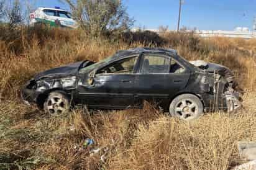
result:
[[[51,77],[62,77],[67,75],[76,74],[78,68],[84,61],[72,63],[70,65],[60,66],[53,69],[48,69],[46,71],[42,71],[39,74],[34,76],[35,80],[42,79],[42,78],[51,78]]]

